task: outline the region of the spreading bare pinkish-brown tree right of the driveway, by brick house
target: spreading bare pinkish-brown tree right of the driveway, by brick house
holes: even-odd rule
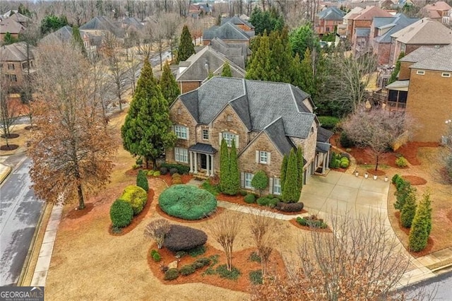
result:
[[[347,136],[358,146],[369,147],[375,156],[375,170],[379,167],[379,158],[393,147],[400,136],[408,138],[412,122],[405,112],[383,109],[367,111],[364,107],[351,114],[342,124]]]

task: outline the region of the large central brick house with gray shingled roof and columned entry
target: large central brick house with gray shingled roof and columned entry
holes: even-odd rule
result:
[[[211,78],[169,108],[178,139],[166,160],[200,176],[218,175],[221,140],[229,146],[234,140],[242,188],[251,189],[254,173],[263,170],[270,178],[266,192],[280,194],[283,155],[292,148],[303,148],[305,183],[328,169],[333,133],[320,127],[314,108],[307,93],[288,83]]]

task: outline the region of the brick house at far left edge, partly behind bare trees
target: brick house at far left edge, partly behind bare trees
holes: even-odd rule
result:
[[[28,73],[35,73],[35,47],[29,45],[27,56],[27,45],[25,42],[17,42],[0,47],[0,69],[5,76],[6,85],[13,90],[18,90],[25,81]],[[28,66],[30,61],[30,67]]]

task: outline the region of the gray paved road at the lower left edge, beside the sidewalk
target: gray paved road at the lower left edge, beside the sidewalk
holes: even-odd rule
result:
[[[44,202],[30,189],[30,159],[11,156],[4,163],[17,163],[0,187],[0,286],[15,285],[25,262]]]

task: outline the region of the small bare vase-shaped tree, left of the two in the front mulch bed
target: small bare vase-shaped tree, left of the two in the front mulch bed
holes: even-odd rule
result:
[[[210,233],[221,245],[226,254],[227,271],[232,270],[232,247],[235,237],[239,234],[242,218],[235,211],[226,211],[210,224]]]

